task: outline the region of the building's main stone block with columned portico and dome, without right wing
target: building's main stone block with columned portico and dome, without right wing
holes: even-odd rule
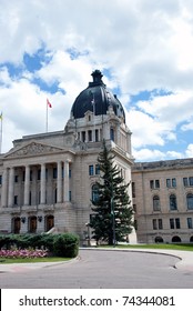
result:
[[[103,139],[115,154],[125,182],[131,181],[131,132],[122,106],[112,93],[106,100],[110,91],[102,74],[96,71],[95,76],[83,100],[77,98],[82,116],[72,106],[64,130],[14,140],[13,148],[1,154],[1,232],[75,232],[83,241],[92,214],[93,185],[99,179],[96,159]],[[85,98],[90,91],[95,92],[96,110]],[[106,110],[101,109],[103,104]],[[131,187],[129,192],[131,197]]]

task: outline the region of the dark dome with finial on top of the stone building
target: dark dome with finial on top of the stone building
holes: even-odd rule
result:
[[[93,111],[95,116],[106,114],[108,109],[112,106],[115,116],[123,118],[125,122],[125,114],[121,102],[110,90],[106,89],[102,81],[102,73],[100,70],[92,72],[93,82],[89,82],[89,87],[83,90],[75,99],[71,116],[74,119],[83,118],[87,111]]]

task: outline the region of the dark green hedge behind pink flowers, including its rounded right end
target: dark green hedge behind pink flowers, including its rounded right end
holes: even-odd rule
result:
[[[1,234],[0,249],[47,249],[57,257],[74,258],[79,253],[79,237],[72,233],[58,234]]]

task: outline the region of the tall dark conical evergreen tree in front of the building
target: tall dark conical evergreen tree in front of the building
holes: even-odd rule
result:
[[[96,242],[106,241],[110,245],[124,241],[133,225],[133,210],[128,194],[129,183],[124,183],[113,159],[114,156],[103,141],[103,150],[98,157],[101,175],[92,200],[94,214],[90,221]]]

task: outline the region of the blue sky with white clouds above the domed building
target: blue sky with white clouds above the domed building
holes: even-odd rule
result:
[[[0,0],[1,152],[64,129],[99,69],[135,161],[193,157],[192,0]]]

